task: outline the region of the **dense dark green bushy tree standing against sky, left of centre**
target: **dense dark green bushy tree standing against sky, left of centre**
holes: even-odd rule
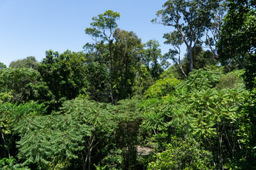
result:
[[[46,51],[46,58],[38,64],[38,72],[55,97],[53,104],[58,106],[66,99],[85,93],[87,81],[84,62],[82,52],[67,50],[59,54],[52,50]]]

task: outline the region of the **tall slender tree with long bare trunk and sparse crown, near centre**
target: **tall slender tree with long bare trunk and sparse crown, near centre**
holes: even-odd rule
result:
[[[96,42],[107,41],[110,52],[110,97],[112,100],[112,104],[114,104],[113,98],[113,56],[112,56],[112,48],[113,48],[113,33],[114,29],[117,28],[116,21],[119,20],[120,14],[118,12],[113,12],[111,10],[105,11],[105,13],[99,14],[97,17],[92,18],[92,23],[90,25],[91,28],[86,28],[85,33],[92,36],[92,39]]]

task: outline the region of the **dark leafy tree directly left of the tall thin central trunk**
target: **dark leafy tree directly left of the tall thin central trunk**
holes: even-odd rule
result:
[[[95,101],[111,103],[108,48],[103,41],[84,45],[87,94]]]

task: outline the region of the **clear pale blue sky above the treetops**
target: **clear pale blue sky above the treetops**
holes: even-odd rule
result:
[[[82,51],[92,17],[106,10],[119,12],[122,30],[133,31],[142,42],[155,39],[164,45],[163,34],[172,28],[153,24],[156,11],[166,0],[0,0],[0,62],[36,57],[41,62],[46,50]]]

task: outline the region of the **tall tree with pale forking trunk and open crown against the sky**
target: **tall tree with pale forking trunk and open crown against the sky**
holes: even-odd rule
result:
[[[154,23],[174,27],[174,31],[181,36],[188,50],[190,72],[193,70],[193,48],[210,25],[210,10],[217,4],[217,1],[210,0],[169,0],[163,5],[164,9],[157,11],[159,20],[152,20]]]

